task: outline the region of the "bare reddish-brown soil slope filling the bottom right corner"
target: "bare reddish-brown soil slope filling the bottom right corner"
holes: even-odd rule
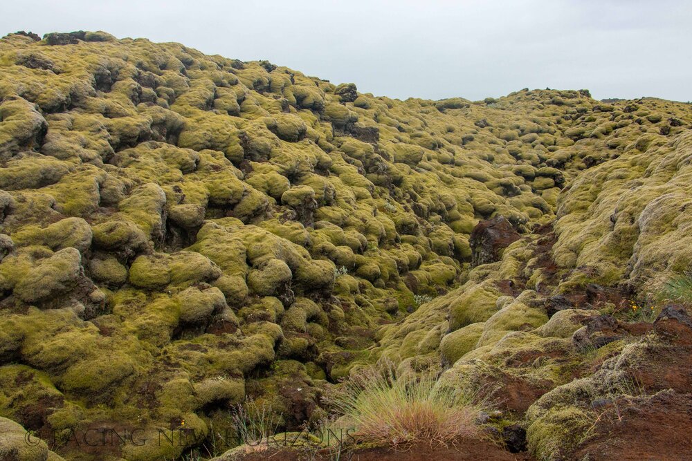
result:
[[[692,459],[692,321],[682,306],[664,308],[629,368],[648,395],[603,407],[574,459]]]

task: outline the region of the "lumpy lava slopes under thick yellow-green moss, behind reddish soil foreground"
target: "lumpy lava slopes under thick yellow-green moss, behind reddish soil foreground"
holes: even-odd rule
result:
[[[692,260],[689,104],[399,101],[181,44],[37,38],[0,40],[0,416],[45,437],[184,421],[179,446],[109,453],[176,458],[246,396],[282,429],[320,420],[385,358],[538,398],[585,373],[569,338],[592,308]],[[475,257],[499,217],[520,238]]]

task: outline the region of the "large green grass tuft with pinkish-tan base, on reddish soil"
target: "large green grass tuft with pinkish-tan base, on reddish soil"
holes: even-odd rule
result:
[[[396,377],[391,369],[369,368],[343,383],[329,401],[354,424],[359,442],[447,445],[480,435],[475,420],[482,404],[439,384],[434,375]]]

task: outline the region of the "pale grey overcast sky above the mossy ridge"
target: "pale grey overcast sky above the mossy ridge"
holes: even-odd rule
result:
[[[684,0],[0,1],[1,35],[81,29],[179,41],[401,99],[549,87],[692,100]]]

